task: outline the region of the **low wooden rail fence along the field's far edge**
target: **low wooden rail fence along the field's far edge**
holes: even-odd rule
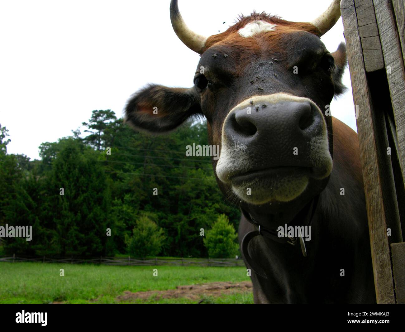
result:
[[[42,263],[65,263],[65,264],[102,264],[102,265],[132,265],[132,266],[245,266],[243,260],[235,258],[131,258],[128,257],[97,257],[97,258],[75,258],[75,257],[46,257],[46,256],[0,256],[0,262],[42,262]]]

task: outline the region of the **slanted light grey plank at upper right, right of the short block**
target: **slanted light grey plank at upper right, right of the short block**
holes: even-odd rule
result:
[[[402,2],[403,5],[403,2]],[[396,126],[399,160],[405,179],[405,69],[398,32],[389,0],[374,0],[375,17],[380,35],[384,63],[390,87],[392,110]],[[403,6],[402,6],[403,11]]]

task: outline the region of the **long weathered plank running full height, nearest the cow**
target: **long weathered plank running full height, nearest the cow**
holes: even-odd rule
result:
[[[395,303],[394,285],[390,264],[390,250],[386,236],[386,214],[384,211],[382,182],[377,164],[377,146],[373,135],[373,108],[367,82],[358,21],[353,0],[342,0],[341,13],[345,30],[347,57],[352,81],[354,104],[358,105],[358,139],[364,193],[373,263],[375,293],[377,303]]]

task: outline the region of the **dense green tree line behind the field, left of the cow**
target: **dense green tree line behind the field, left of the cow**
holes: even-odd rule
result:
[[[8,154],[0,125],[0,226],[32,226],[32,240],[2,238],[6,254],[232,257],[240,212],[217,187],[207,124],[164,136],[97,110],[72,136],[39,147],[40,160]],[[209,235],[209,233],[211,234]]]

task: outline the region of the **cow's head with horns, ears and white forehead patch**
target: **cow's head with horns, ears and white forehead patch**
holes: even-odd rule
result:
[[[177,36],[201,55],[194,86],[143,88],[128,101],[126,122],[164,133],[204,115],[209,144],[220,146],[218,184],[231,201],[269,213],[304,206],[332,170],[326,111],[343,91],[346,54],[343,44],[330,54],[320,36],[339,19],[339,2],[311,23],[253,13],[206,38],[185,25],[172,0]]]

